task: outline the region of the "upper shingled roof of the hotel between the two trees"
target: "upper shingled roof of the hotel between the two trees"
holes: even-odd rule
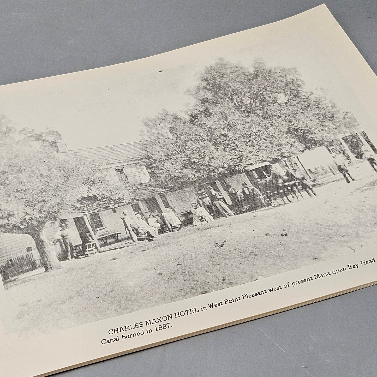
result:
[[[147,143],[147,141],[136,141],[107,147],[69,150],[61,154],[80,161],[90,161],[97,166],[111,166],[141,160],[146,156]]]

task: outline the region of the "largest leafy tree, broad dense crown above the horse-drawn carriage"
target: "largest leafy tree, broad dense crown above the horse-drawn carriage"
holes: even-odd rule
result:
[[[194,104],[182,115],[164,110],[144,120],[143,135],[155,139],[146,162],[171,187],[277,162],[358,126],[320,90],[306,89],[296,68],[260,60],[248,69],[219,59],[188,92]]]

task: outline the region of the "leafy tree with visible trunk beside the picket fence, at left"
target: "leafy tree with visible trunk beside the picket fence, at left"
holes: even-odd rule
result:
[[[55,153],[50,142],[60,135],[53,130],[17,130],[0,118],[0,133],[0,230],[29,234],[44,267],[59,267],[45,225],[86,196],[127,201],[128,191],[111,184],[103,171]]]

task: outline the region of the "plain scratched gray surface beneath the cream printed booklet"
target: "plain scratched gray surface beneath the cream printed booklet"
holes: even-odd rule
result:
[[[159,54],[290,17],[321,3],[2,0],[0,84]],[[326,5],[377,72],[377,0],[329,0]],[[365,288],[59,377],[375,377],[376,295],[377,286]]]

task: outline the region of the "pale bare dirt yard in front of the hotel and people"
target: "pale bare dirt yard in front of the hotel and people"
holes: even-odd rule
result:
[[[353,253],[376,239],[377,175],[318,197],[62,262],[6,284],[14,329],[49,332],[243,284]],[[8,329],[10,330],[10,329]]]

